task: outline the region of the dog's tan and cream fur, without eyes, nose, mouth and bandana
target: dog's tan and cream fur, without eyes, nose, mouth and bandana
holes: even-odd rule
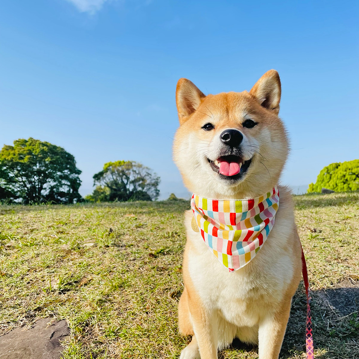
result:
[[[188,190],[212,199],[260,196],[278,184],[288,155],[288,140],[278,118],[280,80],[268,71],[251,92],[205,96],[191,81],[178,81],[176,100],[180,128],[173,145],[174,160]],[[257,122],[251,129],[246,119]],[[212,131],[204,131],[205,123]],[[218,158],[219,134],[238,129],[241,153],[252,158],[246,175],[228,185],[207,159]],[[230,273],[191,228],[192,212],[185,215],[187,243],[178,315],[183,335],[192,335],[181,359],[215,359],[218,349],[235,337],[258,343],[260,359],[278,358],[293,294],[301,278],[300,242],[288,188],[278,186],[280,204],[275,225],[255,259]]]

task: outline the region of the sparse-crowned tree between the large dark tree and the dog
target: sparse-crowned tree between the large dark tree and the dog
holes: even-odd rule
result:
[[[98,185],[87,199],[93,201],[151,201],[158,198],[160,178],[134,161],[108,162],[94,174]]]

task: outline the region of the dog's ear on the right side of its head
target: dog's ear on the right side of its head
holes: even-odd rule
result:
[[[266,109],[279,113],[281,86],[276,70],[267,71],[252,87],[250,94]]]

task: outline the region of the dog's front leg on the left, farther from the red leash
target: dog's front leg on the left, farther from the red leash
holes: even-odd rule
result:
[[[218,328],[216,311],[190,305],[193,331],[201,359],[217,359]]]

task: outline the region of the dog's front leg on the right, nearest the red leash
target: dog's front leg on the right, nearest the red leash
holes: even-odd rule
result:
[[[288,323],[291,300],[281,306],[280,311],[268,313],[259,323],[259,359],[278,359]]]

